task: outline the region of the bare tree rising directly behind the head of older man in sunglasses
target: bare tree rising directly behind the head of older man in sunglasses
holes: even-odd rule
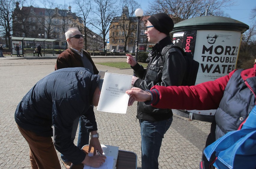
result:
[[[82,19],[82,22],[84,23],[84,27],[80,28],[82,32],[84,33],[84,49],[87,50],[87,35],[91,33],[91,31],[88,29],[88,26],[91,23],[91,20],[89,18],[89,14],[91,11],[91,1],[84,1],[84,0],[78,0],[75,1],[75,3],[78,5],[77,10],[77,16]]]

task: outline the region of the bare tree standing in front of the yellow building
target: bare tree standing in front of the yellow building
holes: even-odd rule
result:
[[[140,5],[134,1],[134,0],[130,0],[130,1],[126,1],[123,0],[122,1],[123,4],[123,13],[120,17],[120,19],[118,19],[118,26],[122,29],[122,35],[119,37],[119,39],[124,41],[124,52],[126,52],[126,47],[127,47],[127,43],[132,43],[135,40],[135,32],[136,32],[136,16],[134,16],[134,12],[137,8],[140,7]],[[114,39],[114,40],[119,40],[119,39]],[[129,42],[130,40],[130,42]],[[132,42],[131,42],[132,40]]]

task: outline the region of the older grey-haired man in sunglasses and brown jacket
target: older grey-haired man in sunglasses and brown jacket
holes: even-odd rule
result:
[[[72,67],[84,67],[89,69],[93,74],[98,74],[97,70],[90,54],[83,50],[84,47],[84,36],[80,33],[78,28],[69,28],[65,33],[66,41],[69,45],[69,48],[59,54],[57,62],[55,65],[55,70],[61,68],[72,68]],[[91,106],[93,109],[93,106]],[[73,130],[72,130],[72,139],[75,139],[78,123],[80,122],[79,133],[78,133],[78,143],[77,147],[82,148],[84,145],[89,144],[89,133],[85,128],[84,121],[81,116],[74,121]],[[91,137],[98,137],[97,131],[91,132]],[[61,161],[67,169],[70,168],[71,162],[65,156],[61,154]]]

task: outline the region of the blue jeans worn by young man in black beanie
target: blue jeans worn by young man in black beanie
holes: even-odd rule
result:
[[[172,124],[172,117],[163,121],[140,122],[142,169],[157,169],[163,135]]]

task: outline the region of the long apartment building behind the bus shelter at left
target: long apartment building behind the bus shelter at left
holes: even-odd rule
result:
[[[19,7],[16,2],[16,8],[13,12],[13,36],[27,38],[45,38],[57,39],[54,44],[45,44],[47,48],[66,49],[65,32],[70,27],[77,27],[84,34],[84,24],[76,13],[69,9],[47,9],[38,7]],[[93,43],[97,48],[103,48],[102,37],[87,29],[87,40],[84,44],[89,50],[93,49]],[[96,36],[94,39],[93,36]],[[32,42],[25,42],[26,46],[30,46]]]

